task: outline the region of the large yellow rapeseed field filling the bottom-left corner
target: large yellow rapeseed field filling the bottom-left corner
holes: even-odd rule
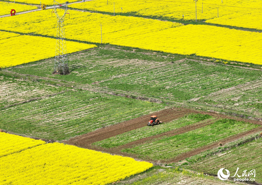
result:
[[[152,166],[129,157],[48,143],[1,157],[0,184],[104,185],[141,173]]]

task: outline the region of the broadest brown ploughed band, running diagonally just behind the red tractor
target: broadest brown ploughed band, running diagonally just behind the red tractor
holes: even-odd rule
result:
[[[66,141],[66,144],[77,145],[80,147],[88,147],[92,143],[101,141],[119,135],[137,128],[147,126],[147,122],[150,119],[151,115],[157,115],[159,120],[163,122],[170,122],[174,119],[183,117],[186,114],[193,113],[193,110],[190,109],[165,109],[162,111],[154,112],[149,115],[142,116],[140,118],[131,119],[126,122],[122,122],[116,125],[112,125],[106,128],[100,128],[94,132],[89,132]],[[76,144],[77,143],[77,144]]]

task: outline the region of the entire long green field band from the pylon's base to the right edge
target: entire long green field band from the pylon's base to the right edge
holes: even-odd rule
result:
[[[66,76],[51,74],[53,60],[7,70],[116,93],[262,115],[262,71],[196,62],[178,55],[161,57],[101,48],[73,54],[69,60],[72,71]]]

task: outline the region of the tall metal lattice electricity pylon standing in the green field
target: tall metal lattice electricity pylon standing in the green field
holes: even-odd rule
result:
[[[57,8],[64,8],[64,14],[59,15]],[[59,72],[60,74],[69,74],[67,53],[66,53],[66,39],[65,39],[65,27],[64,20],[68,13],[68,1],[59,3],[54,1],[52,12],[56,15],[57,29],[56,29],[56,47],[55,47],[55,67],[54,73]]]

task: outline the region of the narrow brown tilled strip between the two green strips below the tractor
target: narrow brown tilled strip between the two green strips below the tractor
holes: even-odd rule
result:
[[[153,136],[150,136],[150,137],[147,137],[147,138],[143,138],[143,139],[139,139],[139,140],[136,140],[136,141],[133,141],[133,142],[129,142],[125,145],[119,146],[118,149],[122,150],[122,149],[130,148],[130,147],[135,146],[135,145],[141,145],[141,144],[143,144],[147,141],[154,140],[154,139],[157,139],[157,138],[161,138],[161,137],[164,137],[164,136],[171,137],[171,136],[174,136],[174,135],[179,135],[179,134],[182,134],[182,133],[185,133],[185,132],[189,132],[191,130],[195,130],[197,128],[201,128],[201,127],[210,125],[210,124],[214,123],[217,119],[218,118],[213,119],[213,120],[208,120],[208,121],[205,121],[205,122],[201,122],[201,123],[195,123],[193,125],[186,125],[184,127],[181,127],[181,128],[175,129],[175,130],[171,130],[171,131],[168,131],[168,132],[164,132],[162,134],[153,135]]]

